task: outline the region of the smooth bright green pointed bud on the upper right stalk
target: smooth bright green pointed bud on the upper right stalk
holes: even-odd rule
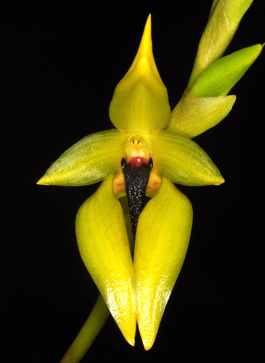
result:
[[[252,45],[225,56],[206,68],[191,92],[201,97],[225,96],[260,55],[262,45]]]

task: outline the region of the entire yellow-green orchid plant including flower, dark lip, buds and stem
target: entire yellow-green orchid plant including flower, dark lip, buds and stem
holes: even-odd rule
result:
[[[76,216],[80,255],[100,295],[61,362],[82,359],[109,312],[131,345],[138,323],[145,349],[152,347],[192,225],[191,203],[173,183],[224,182],[191,139],[229,113],[236,97],[228,92],[262,50],[258,44],[222,57],[251,3],[214,0],[189,83],[172,111],[153,58],[149,15],[109,107],[116,129],[86,136],[38,181],[69,186],[102,181]]]

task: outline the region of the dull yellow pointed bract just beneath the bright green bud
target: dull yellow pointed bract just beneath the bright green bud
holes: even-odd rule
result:
[[[186,89],[165,129],[193,138],[223,120],[235,100],[235,95],[199,97]]]

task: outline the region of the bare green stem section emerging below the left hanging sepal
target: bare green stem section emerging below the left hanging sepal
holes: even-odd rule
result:
[[[59,363],[79,363],[109,317],[109,309],[101,294],[75,340]]]

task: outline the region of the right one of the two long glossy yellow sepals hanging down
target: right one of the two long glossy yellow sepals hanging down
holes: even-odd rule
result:
[[[163,178],[159,191],[140,214],[134,250],[137,322],[146,350],[156,338],[181,270],[191,224],[189,199]]]

